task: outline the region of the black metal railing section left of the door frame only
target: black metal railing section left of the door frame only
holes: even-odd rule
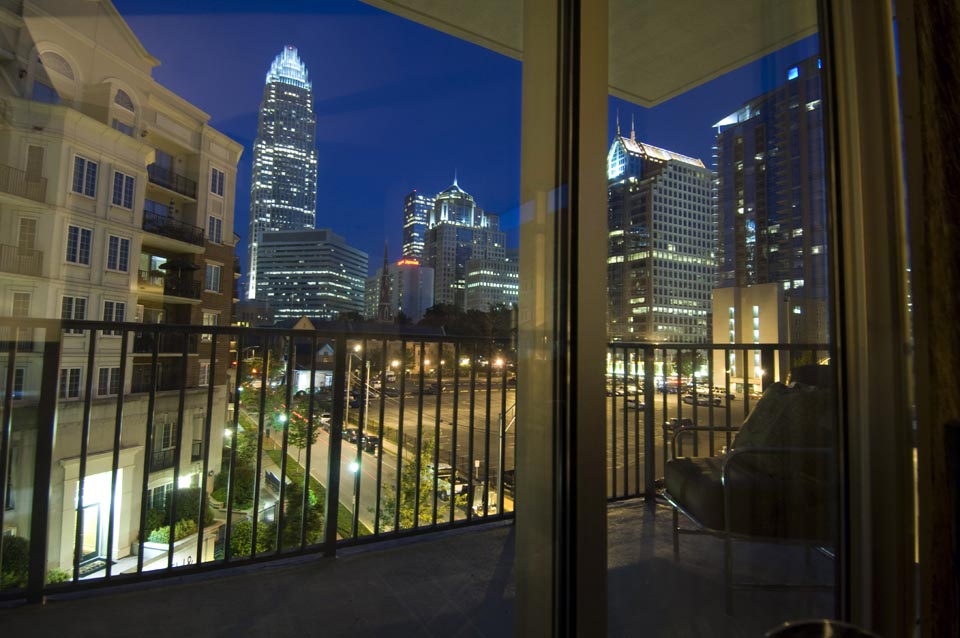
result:
[[[19,449],[36,450],[0,467],[0,489],[12,480],[31,495],[0,514],[20,539],[3,542],[22,544],[26,557],[0,599],[332,554],[513,515],[509,339],[0,318],[4,326],[33,330],[38,348],[0,343],[4,450],[11,432],[20,433]],[[120,338],[104,339],[105,331]],[[211,347],[195,355],[204,334]],[[232,367],[218,347],[230,343],[256,358]],[[29,372],[11,374],[18,369]],[[218,378],[226,386],[202,385]],[[113,379],[125,391],[101,394]],[[79,446],[54,436],[63,427],[77,429]],[[132,491],[105,487],[113,496],[99,506],[108,520],[120,520],[119,508],[133,515],[94,543],[82,520],[87,461],[106,458],[112,470],[101,476],[115,482],[130,450],[124,458],[146,467],[132,474]],[[76,495],[54,479],[66,459],[79,459]],[[167,485],[151,477],[159,470]],[[64,518],[65,535],[50,551],[29,540],[49,535],[47,516],[30,514],[61,498],[75,500],[76,515]],[[83,549],[91,546],[101,549],[100,564]]]

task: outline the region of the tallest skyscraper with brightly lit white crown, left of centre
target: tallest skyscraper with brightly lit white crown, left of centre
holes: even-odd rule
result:
[[[267,72],[250,184],[248,299],[265,299],[260,241],[275,230],[313,229],[317,209],[316,117],[307,67],[286,47]]]

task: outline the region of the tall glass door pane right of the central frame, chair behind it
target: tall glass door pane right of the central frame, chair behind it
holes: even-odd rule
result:
[[[755,636],[837,613],[816,15],[678,11],[611,20],[610,630]]]

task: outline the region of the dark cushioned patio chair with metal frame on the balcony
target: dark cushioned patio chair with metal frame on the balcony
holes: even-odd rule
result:
[[[787,384],[763,393],[739,428],[683,426],[673,436],[663,497],[673,507],[674,558],[681,534],[723,540],[727,613],[745,589],[829,590],[830,585],[736,582],[734,541],[804,545],[832,556],[834,427],[828,366],[804,366]],[[683,439],[700,432],[736,432],[714,457],[683,456]],[[681,528],[682,514],[694,529]]]

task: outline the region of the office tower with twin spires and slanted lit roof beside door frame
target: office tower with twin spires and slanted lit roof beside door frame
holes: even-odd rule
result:
[[[702,342],[716,271],[713,175],[703,162],[630,137],[607,153],[607,333]]]

